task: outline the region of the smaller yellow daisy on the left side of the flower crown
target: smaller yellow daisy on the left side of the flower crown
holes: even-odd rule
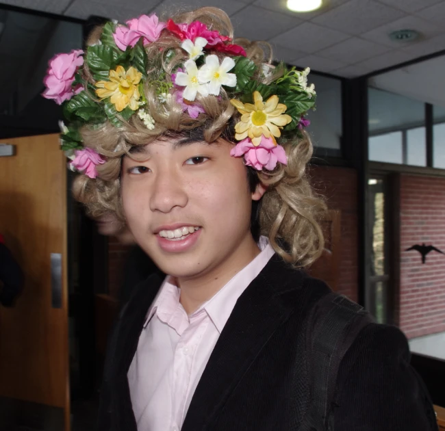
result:
[[[142,73],[133,66],[130,66],[126,72],[125,68],[117,66],[116,70],[110,70],[110,81],[97,81],[96,94],[101,99],[111,97],[110,101],[117,112],[123,111],[127,106],[136,111],[139,108],[138,83],[141,78]]]

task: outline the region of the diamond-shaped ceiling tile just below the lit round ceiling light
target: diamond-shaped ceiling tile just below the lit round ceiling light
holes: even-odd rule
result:
[[[270,42],[312,54],[346,38],[348,36],[340,31],[320,27],[313,23],[302,23],[294,29],[276,36]]]

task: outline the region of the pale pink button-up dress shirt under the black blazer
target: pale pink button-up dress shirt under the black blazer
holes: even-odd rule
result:
[[[127,374],[138,431],[179,431],[205,365],[236,301],[275,253],[262,250],[229,283],[191,315],[167,276],[147,313]]]

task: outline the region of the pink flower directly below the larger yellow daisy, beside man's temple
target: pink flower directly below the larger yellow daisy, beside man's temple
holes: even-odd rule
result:
[[[288,157],[285,154],[284,148],[281,145],[276,145],[272,138],[265,138],[262,135],[262,140],[258,146],[253,145],[251,138],[246,138],[236,146],[234,146],[230,155],[233,157],[241,157],[244,155],[244,160],[247,166],[252,166],[256,170],[275,169],[279,161],[283,165],[288,164]]]

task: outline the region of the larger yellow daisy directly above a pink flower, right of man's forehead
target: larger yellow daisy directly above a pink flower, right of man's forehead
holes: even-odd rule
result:
[[[253,145],[258,146],[261,136],[264,135],[265,138],[272,138],[277,144],[275,138],[281,136],[280,129],[292,121],[288,114],[283,114],[288,107],[283,103],[278,103],[276,94],[270,96],[266,103],[257,91],[253,92],[254,105],[242,103],[237,99],[231,99],[230,102],[242,114],[241,121],[235,126],[235,138],[238,141],[249,136]]]

